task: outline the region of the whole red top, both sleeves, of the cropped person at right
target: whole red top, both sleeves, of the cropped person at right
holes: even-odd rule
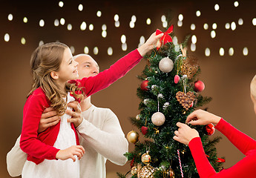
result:
[[[201,178],[234,178],[234,177],[256,177],[256,141],[245,133],[238,131],[224,119],[216,125],[218,131],[223,133],[233,145],[235,145],[245,157],[231,168],[223,169],[219,173],[214,171],[206,158],[200,137],[192,139],[188,146],[197,166]]]

